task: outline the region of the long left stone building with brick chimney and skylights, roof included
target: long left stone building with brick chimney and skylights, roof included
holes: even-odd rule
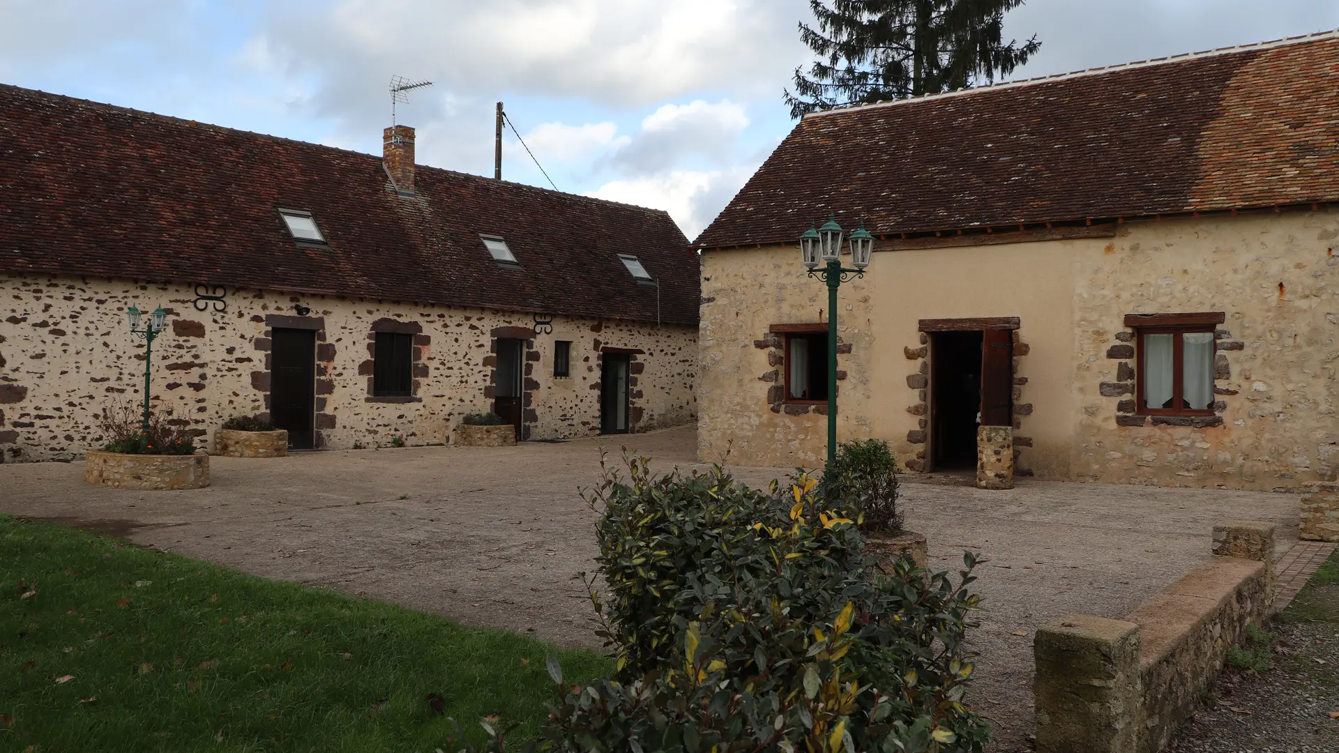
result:
[[[522,439],[696,418],[695,252],[668,214],[0,86],[0,454],[80,456],[143,399],[208,445]]]

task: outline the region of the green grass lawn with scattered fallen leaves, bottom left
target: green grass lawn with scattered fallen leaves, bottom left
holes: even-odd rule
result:
[[[424,750],[529,737],[589,651],[0,516],[0,750]],[[438,699],[430,699],[437,694]],[[438,706],[441,710],[435,710]]]

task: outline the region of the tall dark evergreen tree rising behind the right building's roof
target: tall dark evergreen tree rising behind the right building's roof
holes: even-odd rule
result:
[[[1024,0],[809,0],[818,28],[799,38],[819,59],[786,91],[798,118],[858,102],[964,88],[1008,75],[1042,47],[1000,42],[1004,13]],[[830,7],[829,7],[830,5]]]

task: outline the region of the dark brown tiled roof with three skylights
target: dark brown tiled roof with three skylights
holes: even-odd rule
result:
[[[698,322],[698,260],[668,214],[0,86],[0,271],[208,283],[590,318]],[[328,248],[276,212],[309,210]],[[502,269],[479,234],[506,238]]]

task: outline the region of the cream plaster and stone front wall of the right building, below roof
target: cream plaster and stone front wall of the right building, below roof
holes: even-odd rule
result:
[[[915,376],[928,371],[916,352],[919,319],[1018,316],[1016,376],[1026,383],[1015,387],[1015,426],[1031,441],[1020,469],[1247,489],[1332,478],[1335,247],[1339,213],[1320,210],[1126,224],[1107,238],[876,252],[866,277],[841,289],[838,324],[852,352],[840,356],[849,378],[838,439],[884,438],[904,461],[917,460],[928,446],[909,441],[928,418],[908,410],[920,401]],[[817,322],[826,305],[825,287],[797,269],[790,248],[702,256],[703,460],[732,445],[742,465],[821,464],[825,417],[774,413],[770,382],[759,381],[779,370],[769,362],[767,327]],[[1103,383],[1133,390],[1118,379],[1133,359],[1111,350],[1133,339],[1125,315],[1194,311],[1227,315],[1223,426],[1118,426],[1118,407],[1133,395],[1101,393]]]

